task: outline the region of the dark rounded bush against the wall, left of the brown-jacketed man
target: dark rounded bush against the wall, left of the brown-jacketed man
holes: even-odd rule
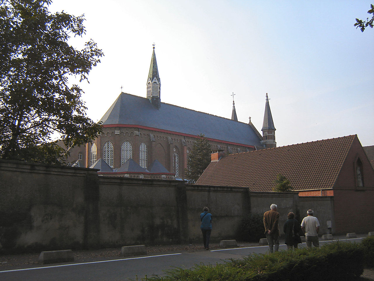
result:
[[[260,214],[250,214],[248,218],[244,218],[239,226],[239,239],[258,242],[261,238],[265,238],[263,218],[263,215]]]

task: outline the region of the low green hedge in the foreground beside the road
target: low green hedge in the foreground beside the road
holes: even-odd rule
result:
[[[332,243],[321,248],[301,248],[273,254],[252,254],[241,260],[193,269],[172,269],[156,281],[351,281],[363,272],[362,247],[355,243]],[[144,278],[142,280],[145,280]]]

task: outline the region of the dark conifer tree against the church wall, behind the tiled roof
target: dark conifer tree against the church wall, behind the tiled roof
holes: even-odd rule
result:
[[[188,156],[188,169],[185,169],[188,182],[196,182],[211,162],[211,145],[205,135],[200,134],[194,142],[192,152]]]

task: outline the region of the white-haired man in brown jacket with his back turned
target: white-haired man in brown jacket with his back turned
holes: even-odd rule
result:
[[[269,252],[273,253],[273,246],[275,251],[279,249],[279,213],[277,212],[278,206],[275,204],[270,205],[270,211],[264,212],[264,227],[267,243],[269,244]]]

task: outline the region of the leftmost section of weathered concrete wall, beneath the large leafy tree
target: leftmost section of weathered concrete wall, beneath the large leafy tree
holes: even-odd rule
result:
[[[83,248],[87,180],[96,170],[0,160],[0,243],[19,251]],[[89,183],[89,182],[88,182]]]

